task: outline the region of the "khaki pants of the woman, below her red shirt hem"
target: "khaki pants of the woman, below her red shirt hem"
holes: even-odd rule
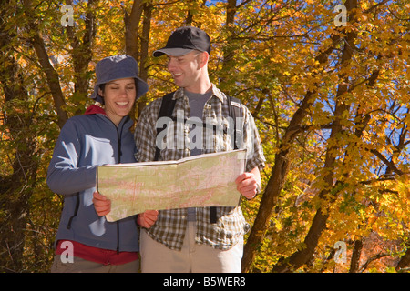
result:
[[[104,265],[74,256],[73,263],[63,263],[60,255],[54,257],[51,273],[138,273],[139,260],[123,265]]]

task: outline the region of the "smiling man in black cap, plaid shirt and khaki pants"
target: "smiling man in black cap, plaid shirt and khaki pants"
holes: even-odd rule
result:
[[[210,83],[208,75],[210,37],[196,27],[180,27],[169,36],[164,48],[154,52],[154,56],[160,55],[168,55],[168,70],[179,86],[173,95],[176,104],[172,115],[182,113],[185,119],[196,117],[203,122],[226,124],[230,116],[227,96]],[[135,139],[139,162],[154,160],[162,99],[147,105],[138,119]],[[265,159],[253,118],[245,106],[241,110],[242,144],[247,148],[247,162],[246,173],[235,182],[241,195],[251,199],[260,191],[260,169]],[[191,136],[187,127],[190,125],[183,126],[182,135],[175,130],[174,136],[167,136],[177,142],[173,147],[162,148],[159,160],[233,149],[230,136],[221,132],[207,136],[203,145],[193,146],[198,145],[193,139],[200,136]],[[203,130],[205,133],[205,126]],[[217,220],[212,221],[210,216],[210,207],[160,210],[156,223],[141,231],[142,272],[241,272],[243,235],[249,230],[241,207],[216,207]]]

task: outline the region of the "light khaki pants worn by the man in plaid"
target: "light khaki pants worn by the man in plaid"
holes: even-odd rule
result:
[[[229,250],[195,244],[195,222],[188,223],[180,251],[153,240],[140,232],[142,273],[241,273],[243,240]]]

